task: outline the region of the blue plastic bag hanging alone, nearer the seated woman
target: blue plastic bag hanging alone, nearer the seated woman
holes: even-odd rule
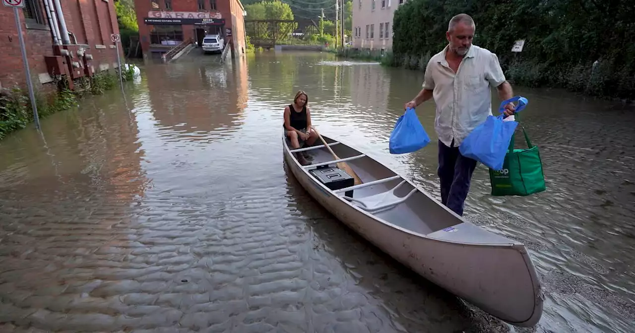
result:
[[[397,119],[392,129],[388,148],[391,153],[411,153],[424,148],[430,143],[428,133],[419,121],[415,109],[407,108],[406,112]]]

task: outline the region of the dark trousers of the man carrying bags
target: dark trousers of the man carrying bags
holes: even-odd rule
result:
[[[454,145],[454,141],[451,145]],[[439,140],[438,174],[441,180],[441,203],[459,216],[463,216],[463,206],[470,190],[476,163],[476,160],[461,155],[458,147],[448,147]]]

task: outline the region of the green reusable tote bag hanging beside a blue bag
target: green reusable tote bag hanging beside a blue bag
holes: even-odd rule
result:
[[[518,118],[518,115],[515,115]],[[545,177],[542,172],[542,160],[538,146],[532,145],[522,127],[526,149],[514,149],[514,136],[509,142],[503,168],[490,169],[491,195],[530,195],[546,190]]]

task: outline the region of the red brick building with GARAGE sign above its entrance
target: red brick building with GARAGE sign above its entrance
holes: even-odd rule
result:
[[[160,58],[184,41],[200,44],[220,34],[232,57],[244,54],[244,7],[240,0],[137,0],[139,37],[144,58]]]

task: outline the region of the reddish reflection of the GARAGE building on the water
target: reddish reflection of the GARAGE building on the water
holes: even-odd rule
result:
[[[150,65],[146,73],[152,113],[168,136],[178,131],[178,139],[214,140],[231,134],[243,119],[246,62]]]

